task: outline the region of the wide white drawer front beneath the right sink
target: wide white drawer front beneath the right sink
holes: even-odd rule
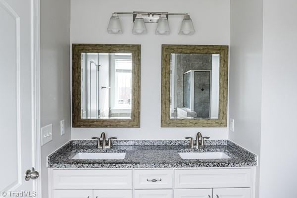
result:
[[[238,188],[251,187],[252,170],[241,169],[193,169],[175,170],[175,189]]]

